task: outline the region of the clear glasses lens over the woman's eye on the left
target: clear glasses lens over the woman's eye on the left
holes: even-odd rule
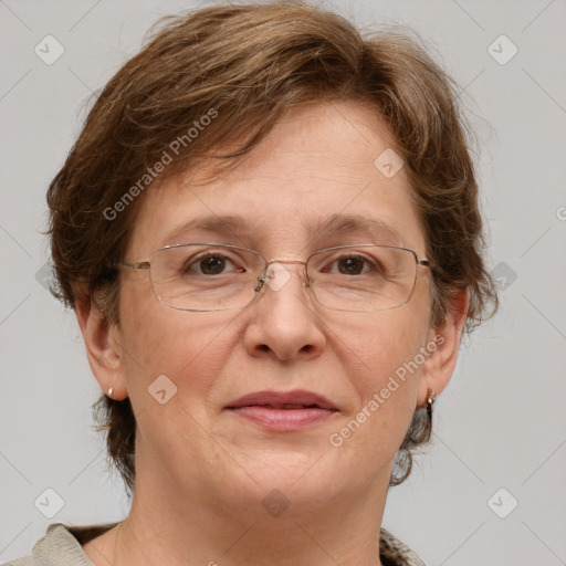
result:
[[[150,260],[154,292],[175,308],[223,311],[250,303],[263,258],[231,245],[180,244],[163,248]]]

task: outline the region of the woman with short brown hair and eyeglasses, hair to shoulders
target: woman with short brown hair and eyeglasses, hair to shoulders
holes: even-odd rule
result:
[[[302,3],[170,18],[118,71],[48,201],[133,504],[35,560],[423,564],[388,488],[496,302],[454,99]]]

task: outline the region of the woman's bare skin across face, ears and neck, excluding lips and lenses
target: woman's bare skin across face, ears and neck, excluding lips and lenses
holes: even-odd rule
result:
[[[227,176],[199,170],[143,196],[127,261],[168,243],[214,241],[265,258],[305,260],[370,234],[321,233],[335,213],[380,220],[396,243],[426,258],[426,240],[401,169],[385,177],[374,161],[392,143],[386,126],[354,103],[293,111]],[[238,214],[250,232],[171,229],[203,214]],[[116,220],[116,221],[119,221]],[[411,300],[374,313],[331,311],[302,286],[301,266],[279,291],[264,289],[245,308],[195,313],[153,294],[147,271],[123,273],[120,325],[108,328],[94,304],[77,304],[92,370],[115,399],[129,396],[137,417],[136,490],[129,516],[84,546],[96,565],[379,565],[378,533],[395,454],[428,389],[439,395],[454,369],[467,293],[430,328],[430,273],[418,268]],[[335,448],[339,431],[441,335],[417,371]],[[148,394],[165,374],[178,388],[166,403]],[[224,410],[258,390],[307,389],[339,409],[297,432],[268,432]],[[262,501],[280,490],[290,502],[272,516]],[[120,528],[118,533],[118,528]]]

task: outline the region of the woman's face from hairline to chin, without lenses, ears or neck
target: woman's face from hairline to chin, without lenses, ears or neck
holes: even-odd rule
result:
[[[402,168],[388,177],[374,165],[391,146],[385,125],[358,105],[295,111],[222,178],[193,170],[148,189],[126,260],[190,242],[302,261],[323,248],[373,242],[423,259],[426,240]],[[248,229],[193,228],[202,217],[226,216]],[[389,229],[322,230],[333,216]],[[387,486],[434,357],[422,355],[423,348],[431,354],[434,336],[428,270],[418,268],[402,307],[346,312],[317,304],[303,269],[285,268],[291,277],[281,289],[264,285],[248,306],[221,312],[171,308],[154,295],[146,270],[124,270],[113,333],[118,380],[137,416],[137,478],[224,503],[260,502],[279,489],[295,504],[316,504]],[[399,368],[416,357],[418,368],[401,379]],[[167,376],[163,405],[148,392],[158,376]],[[397,388],[388,387],[391,377]],[[169,398],[170,384],[177,390]],[[229,409],[250,394],[297,390],[324,397],[332,410],[297,412],[294,421],[291,413]]]

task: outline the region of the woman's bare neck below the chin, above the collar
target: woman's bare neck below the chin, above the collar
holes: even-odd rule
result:
[[[136,483],[113,564],[380,566],[379,530],[387,496],[376,489],[358,497],[336,496],[313,506],[291,501],[277,513],[277,495],[230,505],[202,494],[180,497],[151,482]],[[265,501],[265,500],[264,500]],[[224,503],[224,504],[223,504]],[[265,502],[265,503],[269,503]]]

